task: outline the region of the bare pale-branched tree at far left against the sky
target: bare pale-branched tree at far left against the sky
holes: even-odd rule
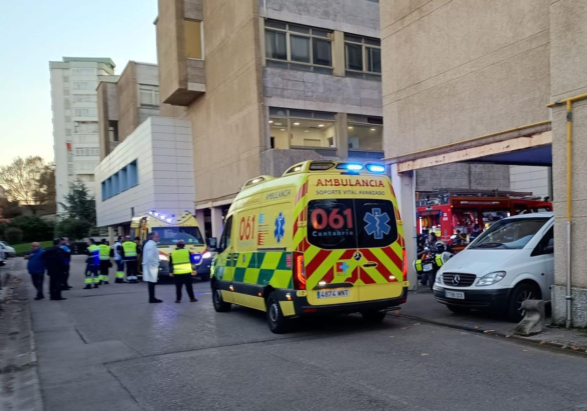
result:
[[[12,164],[0,166],[0,186],[6,197],[31,207],[35,214],[39,206],[51,200],[51,192],[55,201],[55,181],[48,181],[52,169],[52,164],[45,164],[42,157],[16,157]]]

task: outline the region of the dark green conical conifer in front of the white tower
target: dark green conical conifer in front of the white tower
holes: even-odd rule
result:
[[[90,196],[86,184],[79,178],[69,187],[65,202],[59,203],[65,210],[65,219],[57,226],[59,235],[80,240],[89,235],[96,225],[96,200]]]

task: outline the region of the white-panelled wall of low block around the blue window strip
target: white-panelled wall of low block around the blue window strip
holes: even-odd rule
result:
[[[134,214],[194,212],[194,161],[188,120],[149,117],[95,169],[97,225],[128,223]],[[103,200],[102,181],[137,160],[139,184]]]

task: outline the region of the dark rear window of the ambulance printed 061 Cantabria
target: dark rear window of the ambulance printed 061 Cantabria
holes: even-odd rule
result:
[[[326,250],[387,247],[397,240],[389,200],[328,199],[308,203],[308,241]]]

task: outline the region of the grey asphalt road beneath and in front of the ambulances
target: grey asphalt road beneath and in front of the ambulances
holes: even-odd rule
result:
[[[261,312],[215,312],[208,283],[147,304],[145,284],[81,289],[82,270],[67,300],[31,302],[48,411],[587,410],[587,359],[392,315],[275,335]]]

